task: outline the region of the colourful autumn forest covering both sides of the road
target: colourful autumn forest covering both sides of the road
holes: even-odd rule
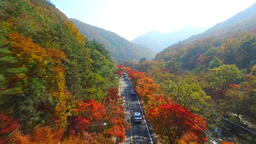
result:
[[[48,0],[1,0],[0,144],[124,142],[121,71],[136,86],[158,143],[255,144],[250,27],[116,65],[104,44]]]

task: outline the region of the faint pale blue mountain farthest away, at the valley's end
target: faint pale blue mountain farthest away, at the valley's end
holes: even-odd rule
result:
[[[184,40],[194,34],[199,34],[210,28],[210,26],[194,27],[187,26],[178,31],[172,31],[169,33],[160,33],[158,31],[149,31],[146,34],[134,38],[132,42],[134,44],[144,44],[156,52],[162,51],[164,48],[180,41]]]

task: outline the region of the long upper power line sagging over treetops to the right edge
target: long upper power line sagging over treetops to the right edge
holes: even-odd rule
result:
[[[161,84],[162,86],[164,86],[164,84],[160,83],[159,80],[156,79],[156,78],[150,73],[150,71],[149,71],[147,68],[146,68],[146,70],[147,70],[148,73],[158,82],[158,84]],[[166,86],[165,86],[165,87],[166,87]],[[170,88],[168,88],[168,87],[167,87],[167,89],[170,90]],[[172,91],[172,90],[170,90],[170,91]],[[173,91],[172,91],[172,92],[173,92]],[[176,93],[174,92],[174,94],[176,94]],[[177,96],[180,96],[179,94],[176,94],[176,95],[177,95]],[[253,131],[251,131],[251,130],[249,130],[249,129],[247,129],[247,128],[244,128],[243,126],[240,126],[239,124],[236,124],[236,123],[234,123],[234,122],[232,122],[232,121],[230,121],[230,120],[224,118],[223,116],[220,116],[219,114],[215,114],[214,112],[212,112],[212,111],[210,111],[210,110],[208,110],[208,109],[206,109],[206,108],[204,108],[204,107],[202,107],[202,106],[199,106],[198,104],[195,104],[194,102],[191,102],[190,100],[184,98],[183,96],[180,96],[180,97],[183,98],[184,100],[190,102],[191,104],[194,104],[195,106],[197,106],[197,107],[199,107],[199,108],[202,108],[203,110],[206,110],[207,112],[210,112],[211,114],[214,114],[215,116],[218,116],[218,117],[222,118],[223,120],[226,120],[226,121],[228,121],[228,122],[230,122],[230,123],[232,123],[232,124],[235,124],[236,126],[239,126],[239,127],[243,128],[244,130],[248,130],[249,132],[252,132],[253,134],[256,134],[255,132],[253,132]]]

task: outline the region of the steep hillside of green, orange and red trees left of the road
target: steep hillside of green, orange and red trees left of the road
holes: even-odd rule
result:
[[[0,144],[123,142],[110,57],[49,1],[1,0]]]

